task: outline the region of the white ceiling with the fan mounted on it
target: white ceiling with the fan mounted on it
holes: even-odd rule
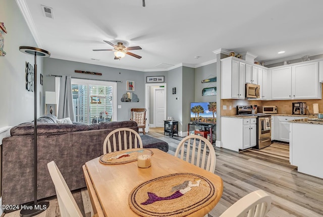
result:
[[[323,53],[321,0],[145,0],[146,7],[142,0],[16,1],[51,58],[159,71],[209,64],[221,48],[265,63]],[[52,8],[53,19],[41,5]],[[131,52],[142,58],[92,51],[113,49],[103,40],[140,46]]]

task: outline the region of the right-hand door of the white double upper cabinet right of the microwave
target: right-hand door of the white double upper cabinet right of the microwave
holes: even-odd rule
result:
[[[321,98],[318,88],[318,62],[292,66],[292,98]]]

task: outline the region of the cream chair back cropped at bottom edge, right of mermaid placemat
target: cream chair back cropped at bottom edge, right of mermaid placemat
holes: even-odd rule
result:
[[[272,198],[263,190],[253,191],[230,206],[220,217],[264,217],[270,210]]]

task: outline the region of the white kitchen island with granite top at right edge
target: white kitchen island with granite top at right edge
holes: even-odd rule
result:
[[[289,161],[299,172],[323,179],[323,119],[290,120]]]

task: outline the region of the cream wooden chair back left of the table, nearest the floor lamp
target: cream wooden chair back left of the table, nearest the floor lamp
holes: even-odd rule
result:
[[[47,163],[48,171],[52,182],[55,185],[57,200],[59,202],[60,212],[62,217],[83,217],[80,208],[67,186],[61,171],[54,161]]]

